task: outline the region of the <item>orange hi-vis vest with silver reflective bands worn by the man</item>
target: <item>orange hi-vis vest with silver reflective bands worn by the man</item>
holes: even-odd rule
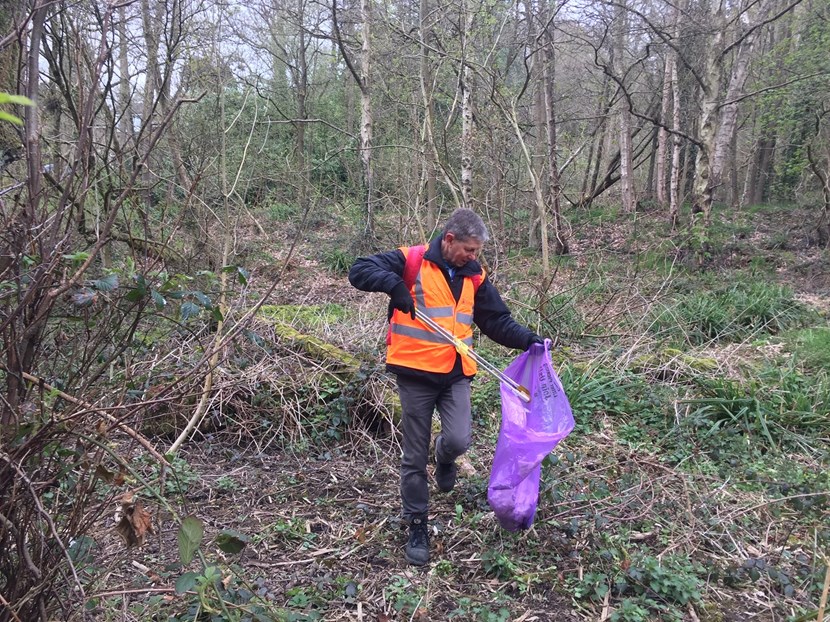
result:
[[[403,246],[400,250],[408,257],[408,247]],[[465,344],[472,346],[473,300],[476,292],[472,278],[464,277],[461,296],[456,303],[441,268],[426,260],[421,262],[409,292],[418,309]],[[386,352],[386,362],[390,365],[435,373],[450,372],[455,365],[455,346],[420,320],[413,320],[408,313],[394,310],[390,320],[390,338]],[[468,356],[461,357],[461,364],[467,376],[472,376],[478,369],[475,361]]]

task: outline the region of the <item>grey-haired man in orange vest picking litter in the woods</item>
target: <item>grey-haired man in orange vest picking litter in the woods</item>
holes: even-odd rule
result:
[[[455,486],[455,461],[472,440],[470,380],[476,373],[473,360],[462,357],[415,318],[416,307],[468,345],[473,323],[508,348],[526,350],[542,343],[512,318],[477,261],[488,238],[487,227],[475,212],[458,209],[426,248],[420,265],[409,257],[416,251],[402,247],[361,257],[349,271],[349,282],[356,288],[390,296],[386,368],[397,376],[403,410],[401,501],[403,518],[409,523],[405,556],[416,566],[429,562],[427,461],[432,413],[437,407],[441,418],[441,433],[435,439],[435,481],[441,491],[449,492]],[[405,275],[412,282],[406,283]]]

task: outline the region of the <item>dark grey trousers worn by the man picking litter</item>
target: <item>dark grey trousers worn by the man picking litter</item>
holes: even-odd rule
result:
[[[403,458],[401,459],[401,501],[403,518],[426,514],[429,507],[427,462],[432,438],[432,413],[438,408],[441,433],[435,439],[435,457],[449,464],[472,442],[470,380],[463,378],[448,387],[434,387],[410,378],[398,377],[401,397]]]

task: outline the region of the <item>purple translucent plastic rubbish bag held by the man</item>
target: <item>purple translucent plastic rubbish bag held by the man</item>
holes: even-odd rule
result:
[[[505,375],[530,391],[530,402],[501,385],[501,429],[487,501],[509,531],[533,524],[542,460],[574,427],[573,413],[550,358],[550,339],[516,357]]]

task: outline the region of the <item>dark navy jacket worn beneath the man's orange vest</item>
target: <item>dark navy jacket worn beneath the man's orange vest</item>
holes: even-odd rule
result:
[[[461,296],[461,288],[464,284],[463,277],[482,273],[481,264],[477,261],[470,261],[461,268],[457,268],[454,278],[451,279],[449,272],[447,272],[446,262],[441,256],[441,236],[438,236],[430,242],[429,248],[424,253],[424,261],[431,261],[441,269],[444,278],[449,283],[453,296],[455,296],[456,302]],[[370,257],[360,257],[354,262],[351,270],[349,270],[349,282],[357,289],[365,292],[384,292],[391,294],[392,289],[398,283],[403,283],[405,265],[406,257],[398,249],[378,253]],[[389,317],[391,316],[392,307],[390,305]],[[513,316],[510,315],[510,310],[504,304],[495,285],[486,277],[479,286],[473,302],[473,322],[490,339],[508,348],[526,350],[534,339],[538,339],[535,333],[513,319]],[[461,368],[460,354],[456,356],[455,366],[452,371],[446,374],[427,372],[398,365],[387,365],[387,369],[394,374],[418,377],[424,381],[442,385],[452,384],[460,378],[465,377]]]

